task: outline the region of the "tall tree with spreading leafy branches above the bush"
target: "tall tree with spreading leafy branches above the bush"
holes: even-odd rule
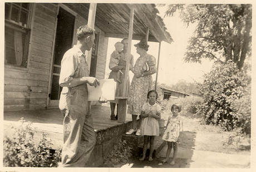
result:
[[[175,12],[188,26],[197,23],[185,62],[232,60],[238,69],[243,67],[251,53],[252,4],[169,4],[165,16],[174,16]]]

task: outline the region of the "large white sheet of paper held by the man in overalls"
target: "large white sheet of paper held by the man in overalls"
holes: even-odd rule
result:
[[[100,86],[96,88],[87,84],[88,101],[99,101],[103,96],[107,100],[115,100],[116,82],[114,79],[100,79]]]

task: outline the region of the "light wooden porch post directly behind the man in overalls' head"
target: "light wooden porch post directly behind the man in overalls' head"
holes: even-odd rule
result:
[[[90,28],[94,28],[94,23],[95,23],[95,16],[96,16],[96,8],[97,8],[97,3],[90,3],[90,9],[89,9],[89,14],[88,14],[88,22],[87,25]],[[91,55],[92,55],[92,50],[89,50],[86,52],[86,60],[88,67],[91,67]],[[90,70],[89,70],[90,72]]]

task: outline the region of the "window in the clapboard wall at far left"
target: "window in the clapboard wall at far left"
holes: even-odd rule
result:
[[[27,67],[30,3],[4,4],[4,63]]]

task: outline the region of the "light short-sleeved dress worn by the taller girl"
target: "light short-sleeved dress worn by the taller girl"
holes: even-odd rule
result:
[[[154,115],[161,112],[161,107],[159,104],[150,105],[149,103],[145,103],[142,106],[142,111],[144,112],[153,112]],[[141,127],[140,127],[141,135],[155,135],[159,136],[159,123],[158,120],[153,117],[143,118]]]

